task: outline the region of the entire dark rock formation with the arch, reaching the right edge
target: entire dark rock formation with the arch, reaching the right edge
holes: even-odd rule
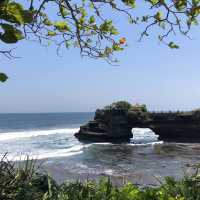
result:
[[[200,140],[200,111],[151,113],[145,105],[117,102],[98,109],[93,121],[80,127],[80,140],[124,141],[132,128],[150,128],[162,140]]]

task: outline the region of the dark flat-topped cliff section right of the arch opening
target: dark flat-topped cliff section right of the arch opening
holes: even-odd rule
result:
[[[162,140],[200,141],[199,111],[149,113],[151,128]]]

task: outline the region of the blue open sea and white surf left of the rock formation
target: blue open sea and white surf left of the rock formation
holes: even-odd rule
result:
[[[93,113],[0,114],[0,156],[43,159],[80,153],[73,136]]]

